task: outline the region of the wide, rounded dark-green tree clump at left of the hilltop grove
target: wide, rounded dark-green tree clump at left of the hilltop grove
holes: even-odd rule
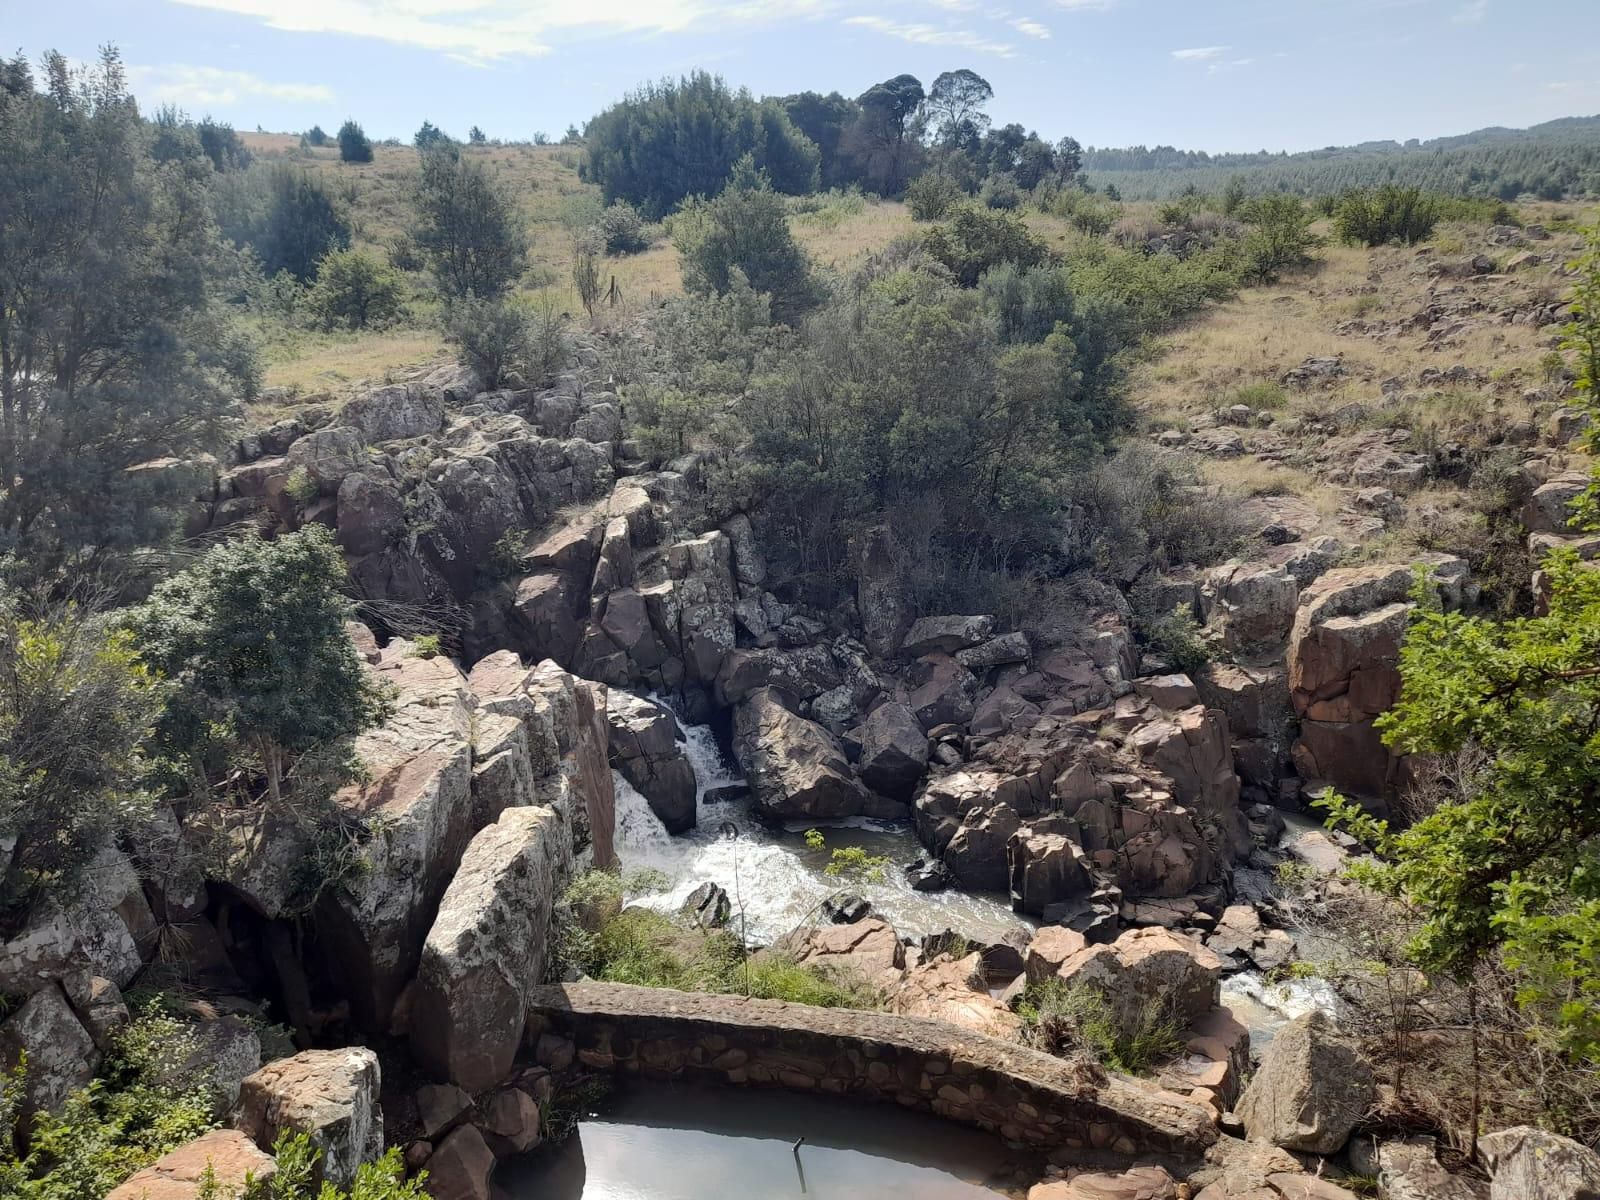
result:
[[[818,186],[818,149],[782,104],[733,91],[706,72],[630,93],[589,122],[584,144],[584,178],[608,202],[627,200],[650,218],[691,195],[717,195],[744,155],[779,192]]]

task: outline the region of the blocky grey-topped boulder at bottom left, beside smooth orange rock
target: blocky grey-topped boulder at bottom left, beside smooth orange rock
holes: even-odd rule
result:
[[[384,1152],[371,1050],[302,1050],[269,1062],[238,1088],[234,1126],[270,1150],[282,1133],[304,1133],[322,1152],[322,1178],[349,1187],[355,1168]]]

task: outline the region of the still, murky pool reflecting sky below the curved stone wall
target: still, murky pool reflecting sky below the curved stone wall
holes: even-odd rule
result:
[[[888,1104],[634,1083],[494,1186],[507,1200],[995,1200],[1030,1178],[998,1139]]]

